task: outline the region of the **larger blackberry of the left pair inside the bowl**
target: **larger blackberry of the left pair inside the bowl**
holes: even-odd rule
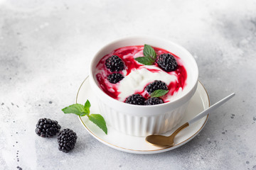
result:
[[[119,72],[124,69],[124,62],[117,55],[107,58],[105,65],[111,72]]]

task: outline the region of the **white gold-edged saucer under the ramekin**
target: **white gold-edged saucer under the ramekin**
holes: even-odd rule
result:
[[[95,98],[95,95],[93,94],[93,91],[90,89],[89,80],[86,78],[85,81],[82,82],[82,85],[80,86],[80,89],[78,90],[76,102],[84,104],[86,100],[89,100],[91,103],[90,113],[100,113],[99,108],[97,106],[97,101]],[[188,104],[188,108],[186,110],[186,115],[179,123],[176,128],[183,125],[183,123],[186,123],[188,120],[191,120],[195,115],[203,111],[204,109],[208,108],[210,106],[210,101],[208,98],[208,94],[206,89],[203,87],[203,84],[201,84],[200,81],[198,81],[198,88],[196,90],[196,93],[191,98],[190,103]],[[200,132],[204,125],[206,125],[206,122],[208,120],[208,115],[204,118],[201,118],[201,120],[198,120],[196,123],[193,123],[192,125],[188,126],[188,128],[182,130],[178,135],[176,136],[174,142],[175,145],[173,147],[156,147],[153,145],[150,145],[145,141],[145,137],[135,137],[130,135],[125,135],[121,132],[118,132],[117,130],[114,130],[110,125],[107,125],[107,135],[100,130],[95,124],[90,122],[88,120],[87,116],[80,117],[82,125],[85,127],[85,129],[95,137],[95,139],[99,140],[103,144],[112,147],[114,149],[118,149],[123,152],[129,152],[133,154],[155,154],[160,152],[166,152],[172,149],[175,149],[177,147],[181,147],[181,145],[186,144],[186,142],[193,139],[193,137],[196,137],[198,132]],[[174,130],[164,133],[163,135],[171,135]]]

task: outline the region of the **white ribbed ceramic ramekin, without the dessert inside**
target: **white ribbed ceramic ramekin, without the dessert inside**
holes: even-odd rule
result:
[[[119,47],[144,44],[168,50],[183,60],[183,65],[187,71],[187,84],[182,95],[174,101],[154,106],[131,105],[108,96],[98,86],[94,73],[96,65],[102,57]],[[102,47],[92,58],[89,79],[91,88],[98,100],[100,113],[105,118],[107,125],[111,125],[114,129],[127,135],[146,136],[167,132],[181,121],[188,102],[196,91],[198,67],[193,56],[180,45],[159,38],[136,36],[122,38]]]

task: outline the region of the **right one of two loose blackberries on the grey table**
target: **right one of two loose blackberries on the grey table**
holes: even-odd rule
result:
[[[75,142],[78,139],[76,133],[70,129],[63,129],[58,134],[58,145],[59,150],[65,153],[70,152],[74,149]]]

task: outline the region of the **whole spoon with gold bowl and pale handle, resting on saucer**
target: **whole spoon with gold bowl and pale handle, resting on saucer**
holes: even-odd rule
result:
[[[171,134],[171,136],[149,135],[145,139],[146,142],[149,142],[151,145],[156,145],[156,146],[161,146],[161,147],[171,147],[171,146],[173,146],[174,145],[174,137],[176,137],[176,135],[178,135],[178,133],[181,132],[181,130],[187,128],[189,125],[191,125],[192,123],[195,123],[197,120],[203,118],[205,115],[208,115],[208,113],[210,113],[211,111],[213,111],[216,108],[223,105],[223,103],[228,101],[230,98],[233,98],[233,96],[235,96],[234,93],[230,94],[229,96],[227,96],[227,97],[223,98],[222,100],[218,101],[213,106],[210,106],[210,108],[207,108],[205,111],[202,111],[201,113],[196,115],[195,118],[193,118],[192,120],[189,120],[187,123],[181,125],[181,127],[178,128],[177,130],[175,130],[175,132],[173,134]]]

